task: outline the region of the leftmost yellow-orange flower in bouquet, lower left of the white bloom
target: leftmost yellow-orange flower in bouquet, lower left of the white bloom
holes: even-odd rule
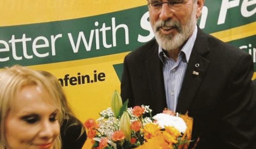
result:
[[[158,124],[148,123],[144,126],[143,132],[144,132],[144,139],[148,140],[151,137],[157,136],[161,133],[161,128],[158,126]]]

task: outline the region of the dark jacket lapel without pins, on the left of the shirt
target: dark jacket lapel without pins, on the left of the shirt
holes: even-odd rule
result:
[[[158,45],[155,44],[148,53],[148,58],[145,60],[147,76],[151,91],[151,96],[154,103],[154,113],[160,113],[167,107],[164,89],[163,64],[158,57]]]

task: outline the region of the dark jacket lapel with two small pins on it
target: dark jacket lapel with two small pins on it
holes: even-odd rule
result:
[[[210,64],[210,61],[203,57],[204,54],[209,52],[207,42],[206,35],[198,28],[195,45],[190,55],[188,67],[181,86],[176,112],[186,113],[191,103],[194,101],[197,90]]]

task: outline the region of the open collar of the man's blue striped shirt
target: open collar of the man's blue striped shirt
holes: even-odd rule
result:
[[[187,63],[189,61],[193,46],[196,41],[196,35],[197,35],[197,25],[195,26],[195,29],[194,29],[192,35],[188,38],[188,41],[185,43],[185,45],[181,49],[181,51],[185,54]],[[159,56],[160,60],[164,63],[164,56],[166,56],[166,55],[163,52],[163,49],[161,46],[158,46],[158,56]]]

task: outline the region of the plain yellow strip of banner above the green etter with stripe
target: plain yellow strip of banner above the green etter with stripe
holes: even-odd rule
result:
[[[0,26],[83,18],[146,4],[146,0],[1,0]]]

